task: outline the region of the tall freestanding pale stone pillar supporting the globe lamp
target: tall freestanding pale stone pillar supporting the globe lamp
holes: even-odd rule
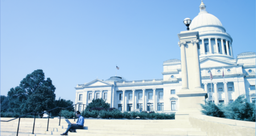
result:
[[[178,34],[178,37],[180,40],[179,43],[186,42],[185,45],[180,44],[181,73],[182,75],[187,75],[187,78],[181,78],[181,80],[183,87],[185,84],[188,88],[182,88],[176,93],[179,97],[179,109],[177,109],[178,111],[175,114],[175,120],[184,120],[188,119],[188,115],[191,113],[201,114],[200,104],[205,104],[207,92],[201,87],[200,62],[197,48],[199,32],[182,31]],[[186,66],[185,71],[183,71],[182,65]],[[184,82],[184,79],[187,79],[187,82]]]

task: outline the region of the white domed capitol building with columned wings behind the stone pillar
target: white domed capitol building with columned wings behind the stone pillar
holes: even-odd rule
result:
[[[233,46],[232,37],[226,32],[220,20],[207,12],[206,7],[201,2],[199,14],[189,25],[189,31],[199,32],[197,47],[201,88],[207,93],[205,99],[215,104],[228,104],[245,94],[247,101],[255,102],[255,52],[244,52],[234,56],[233,48],[236,48],[236,45]],[[189,73],[189,69],[187,71]],[[212,87],[210,73],[213,76]],[[82,108],[93,99],[102,98],[110,107],[122,112],[176,113],[180,104],[180,98],[176,94],[183,88],[181,60],[164,61],[162,74],[163,79],[129,81],[112,76],[106,80],[95,79],[89,83],[77,84],[75,104],[80,104],[77,108],[82,111]]]

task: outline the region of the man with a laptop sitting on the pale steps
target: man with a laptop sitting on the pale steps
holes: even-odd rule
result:
[[[68,129],[60,135],[68,135],[68,131],[71,129],[84,129],[84,117],[80,115],[80,112],[76,112],[77,121],[76,124],[68,125]]]

